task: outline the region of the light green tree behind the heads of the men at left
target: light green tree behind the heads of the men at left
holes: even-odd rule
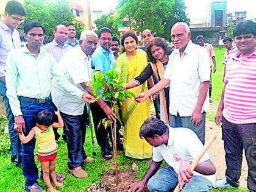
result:
[[[74,23],[68,0],[24,0],[24,7],[28,13],[26,21],[42,23],[46,27],[46,35],[51,35],[58,24]]]

